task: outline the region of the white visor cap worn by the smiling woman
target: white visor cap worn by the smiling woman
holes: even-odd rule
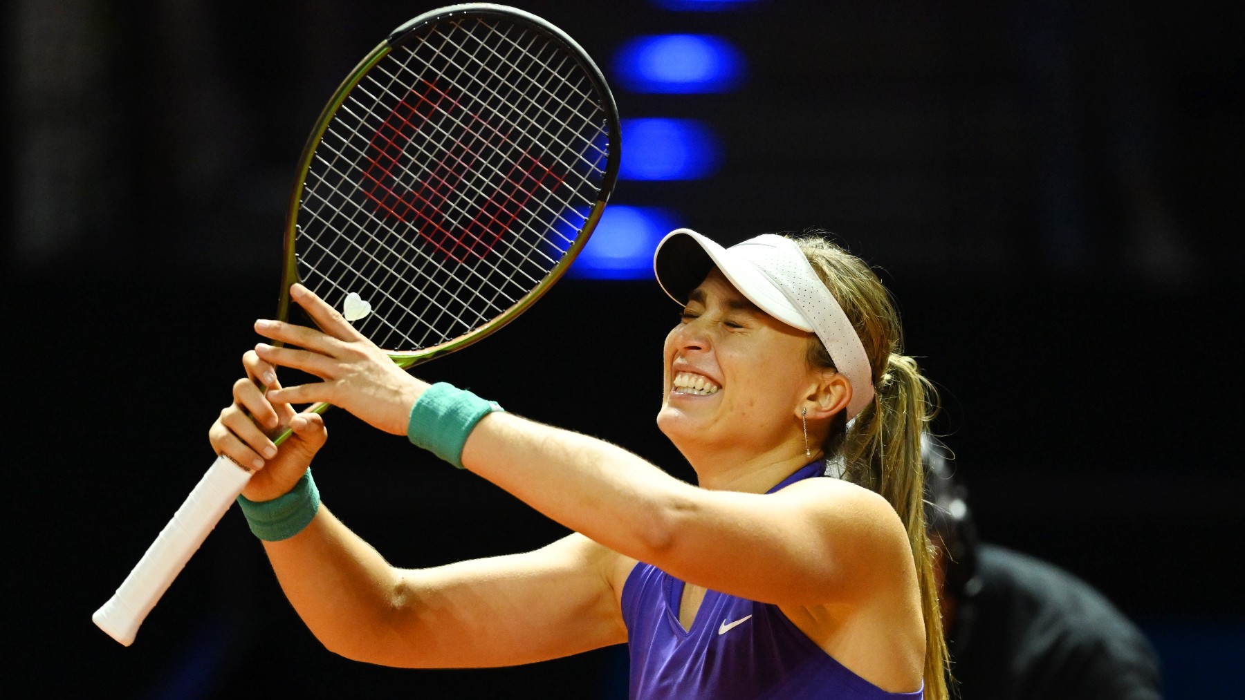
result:
[[[687,303],[687,295],[715,266],[762,311],[817,334],[834,367],[852,383],[848,419],[873,400],[873,372],[864,344],[796,241],[762,234],[722,247],[691,229],[675,229],[661,239],[652,256],[657,283],[679,303]]]

